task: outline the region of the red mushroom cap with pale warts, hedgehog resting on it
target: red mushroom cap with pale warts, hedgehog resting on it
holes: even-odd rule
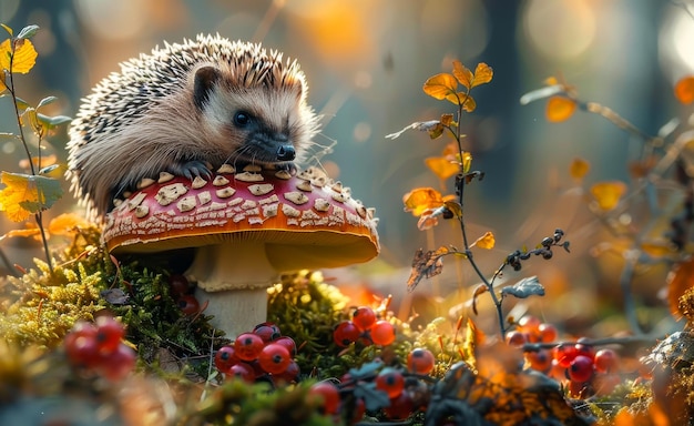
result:
[[[191,181],[162,173],[109,213],[103,240],[119,253],[263,242],[279,272],[366,262],[379,252],[374,211],[316,168],[296,175],[223,166]]]

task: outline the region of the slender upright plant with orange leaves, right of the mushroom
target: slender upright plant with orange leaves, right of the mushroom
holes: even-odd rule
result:
[[[471,90],[481,84],[487,84],[492,80],[493,71],[486,63],[479,63],[472,72],[460,61],[453,61],[452,73],[439,73],[429,78],[423,84],[423,91],[428,95],[447,100],[457,106],[455,114],[442,114],[439,120],[426,122],[416,122],[399,132],[391,133],[386,138],[395,139],[400,136],[408,129],[416,129],[429,133],[429,138],[438,139],[443,134],[452,136],[453,142],[446,146],[443,156],[427,159],[427,165],[441,180],[455,176],[455,195],[442,195],[432,187],[418,187],[407,193],[402,201],[405,210],[411,212],[419,217],[417,226],[420,230],[427,230],[438,224],[439,217],[456,219],[460,224],[460,233],[462,234],[463,247],[459,250],[455,246],[440,246],[436,250],[425,252],[417,251],[412,261],[412,271],[407,283],[408,291],[414,291],[419,282],[423,278],[430,278],[441,273],[443,268],[442,258],[453,255],[467,260],[476,274],[482,281],[482,284],[474,291],[473,311],[477,313],[474,300],[483,294],[489,293],[497,308],[499,328],[501,335],[506,334],[506,321],[503,316],[502,302],[506,296],[514,296],[525,298],[531,295],[544,295],[544,287],[539,283],[537,277],[525,278],[512,286],[501,288],[500,292],[494,287],[494,281],[501,276],[506,266],[511,266],[514,271],[521,270],[521,261],[525,261],[531,256],[541,256],[544,260],[552,258],[552,248],[555,246],[563,247],[569,251],[569,242],[562,241],[564,232],[555,230],[552,236],[542,240],[534,250],[519,250],[509,254],[501,266],[493,273],[491,278],[482,273],[473,257],[472,247],[477,246],[483,250],[494,247],[496,239],[491,232],[487,232],[476,241],[471,242],[466,230],[463,215],[463,195],[466,185],[473,181],[480,181],[484,174],[480,171],[471,171],[472,155],[462,149],[462,134],[460,121],[465,113],[473,112],[477,108],[477,101],[470,94]],[[462,87],[462,89],[460,89]]]

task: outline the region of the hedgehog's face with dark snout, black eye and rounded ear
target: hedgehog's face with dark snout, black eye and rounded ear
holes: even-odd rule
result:
[[[280,88],[234,87],[214,67],[196,72],[194,102],[211,134],[207,142],[229,163],[288,163],[300,158],[315,133],[304,83]]]

